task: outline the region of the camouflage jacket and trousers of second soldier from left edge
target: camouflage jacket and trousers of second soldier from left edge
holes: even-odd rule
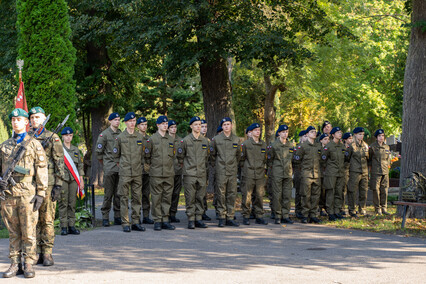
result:
[[[46,128],[36,137],[40,143],[50,137],[52,132]],[[55,213],[56,201],[52,202],[52,188],[62,186],[64,179],[64,149],[59,136],[54,134],[52,140],[44,148],[47,157],[48,167],[48,187],[46,198],[39,210],[37,224],[37,253],[52,254],[53,244],[55,242]]]

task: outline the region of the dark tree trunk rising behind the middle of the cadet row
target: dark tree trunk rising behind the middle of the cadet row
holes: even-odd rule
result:
[[[216,135],[219,121],[231,116],[231,84],[226,59],[217,57],[213,62],[206,59],[200,64],[204,112],[208,122],[207,137]]]

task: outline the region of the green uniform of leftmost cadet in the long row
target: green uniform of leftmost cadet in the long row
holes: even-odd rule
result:
[[[98,160],[103,161],[104,170],[104,201],[102,203],[102,219],[109,219],[109,212],[111,211],[111,202],[113,203],[114,218],[120,218],[120,197],[118,196],[118,166],[114,159],[113,148],[115,139],[120,135],[121,130],[117,129],[114,132],[111,127],[105,129],[99,134],[96,156]]]

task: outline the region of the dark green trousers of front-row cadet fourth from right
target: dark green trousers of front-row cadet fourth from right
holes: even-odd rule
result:
[[[318,216],[318,202],[321,194],[321,179],[302,177],[300,195],[302,200],[303,217]]]

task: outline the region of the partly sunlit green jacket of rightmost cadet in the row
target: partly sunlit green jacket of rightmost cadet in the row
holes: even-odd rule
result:
[[[391,161],[390,147],[384,142],[382,146],[377,141],[369,147],[369,164],[371,165],[371,174],[387,175]]]

